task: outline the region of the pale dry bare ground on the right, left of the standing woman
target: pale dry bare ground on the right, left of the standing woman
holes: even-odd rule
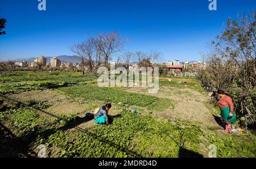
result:
[[[130,88],[126,91],[148,94],[145,88]],[[203,95],[190,88],[160,86],[158,93],[150,95],[174,100],[173,109],[166,109],[163,112],[153,112],[154,116],[174,121],[199,122],[204,128],[210,130],[222,129],[216,120],[214,120],[213,115],[218,114],[218,112],[212,105],[209,105],[209,98],[206,94]]]

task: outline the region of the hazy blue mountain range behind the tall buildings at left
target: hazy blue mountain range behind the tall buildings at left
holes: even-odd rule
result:
[[[58,57],[58,59],[61,61],[61,62],[72,62],[72,63],[80,63],[80,59],[78,56],[67,56],[67,55],[61,55],[61,56],[56,56]],[[52,57],[46,57],[47,60],[46,62],[49,63],[51,62],[51,58]],[[27,62],[31,62],[31,61],[34,61],[36,60],[36,57],[30,57],[30,58],[18,58],[16,59],[15,61],[27,61]]]

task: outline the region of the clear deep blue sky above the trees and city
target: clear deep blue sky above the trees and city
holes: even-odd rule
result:
[[[69,46],[98,32],[117,31],[129,41],[126,50],[162,52],[164,61],[201,60],[200,51],[221,32],[229,16],[256,9],[255,0],[1,0],[7,19],[0,36],[0,60],[72,55]]]

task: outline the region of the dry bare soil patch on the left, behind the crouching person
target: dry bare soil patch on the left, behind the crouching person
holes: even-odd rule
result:
[[[42,111],[39,111],[40,115],[46,117],[76,114],[77,116],[84,118],[86,113],[93,113],[96,109],[100,108],[101,105],[104,104],[104,102],[95,100],[89,103],[84,103],[81,100],[72,100],[61,92],[55,90],[34,90],[19,94],[7,94],[5,96],[12,100],[26,104],[28,104],[30,100],[35,100],[36,102],[47,101],[50,106],[47,109],[42,109]],[[118,110],[113,108],[110,110],[109,115],[117,115],[117,112]],[[84,121],[72,128],[72,130],[85,129],[93,125],[95,125],[93,120]]]

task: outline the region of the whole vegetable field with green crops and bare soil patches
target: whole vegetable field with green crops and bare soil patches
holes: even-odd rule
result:
[[[142,88],[98,87],[79,73],[0,73],[1,157],[255,157],[255,134],[226,134],[196,79]],[[111,125],[96,125],[106,102]],[[137,113],[131,110],[137,109]],[[198,118],[197,118],[198,117]]]

